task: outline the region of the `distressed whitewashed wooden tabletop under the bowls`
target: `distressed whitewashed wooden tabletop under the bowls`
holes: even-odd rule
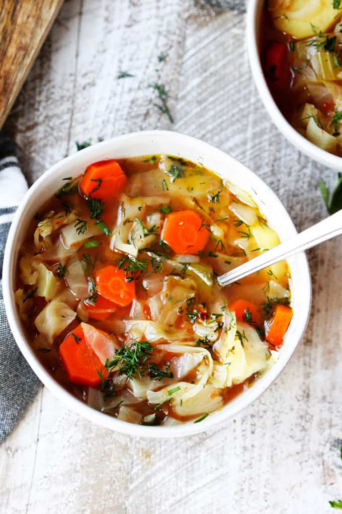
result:
[[[252,83],[244,15],[196,0],[70,0],[8,126],[30,183],[93,141],[146,128],[202,138],[257,172],[298,229],[326,216],[335,173],[277,132]],[[158,62],[160,54],[167,58]],[[159,71],[156,71],[159,69]],[[120,71],[135,77],[117,79]],[[154,106],[169,89],[174,124]],[[3,514],[324,514],[342,497],[342,240],[310,253],[306,337],[267,392],[224,426],[145,440],[91,425],[42,388],[0,446]]]

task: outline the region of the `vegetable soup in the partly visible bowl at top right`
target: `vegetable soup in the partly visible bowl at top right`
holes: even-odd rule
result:
[[[260,31],[263,71],[280,111],[309,141],[339,156],[341,8],[338,0],[269,0]]]

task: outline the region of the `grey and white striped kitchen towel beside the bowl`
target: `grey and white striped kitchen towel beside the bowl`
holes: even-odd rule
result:
[[[13,339],[2,288],[6,239],[14,212],[26,191],[15,145],[0,135],[0,442],[13,430],[40,385]]]

